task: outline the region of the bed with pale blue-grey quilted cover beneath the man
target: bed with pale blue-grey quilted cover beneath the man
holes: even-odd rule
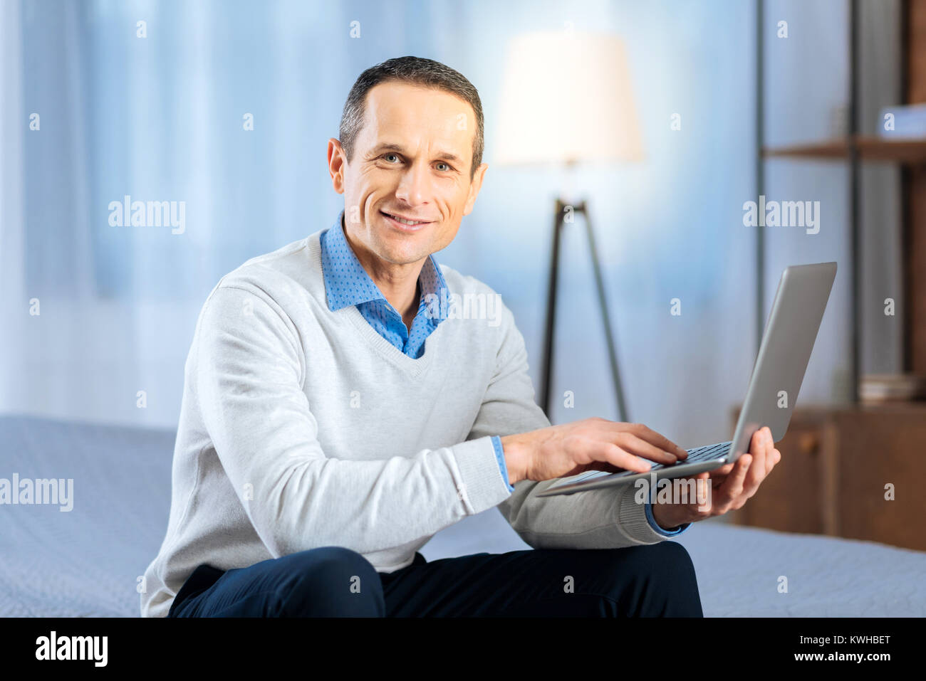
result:
[[[0,506],[0,615],[139,616],[137,580],[167,527],[173,442],[172,430],[0,416],[0,478],[74,480],[69,512]],[[707,616],[926,615],[926,552],[718,520],[675,540],[692,556]],[[491,509],[439,532],[421,553],[528,548]]]

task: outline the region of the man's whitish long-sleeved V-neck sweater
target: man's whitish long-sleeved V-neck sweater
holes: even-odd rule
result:
[[[507,306],[495,318],[444,318],[412,359],[357,307],[328,309],[320,233],[247,261],[203,305],[143,616],[166,616],[200,563],[229,570],[336,545],[388,573],[493,506],[535,549],[666,539],[630,486],[538,499],[557,480],[521,480],[509,493],[491,436],[550,422]],[[441,269],[451,293],[495,297]]]

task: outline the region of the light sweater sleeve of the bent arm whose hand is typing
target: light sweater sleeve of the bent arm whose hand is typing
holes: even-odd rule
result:
[[[274,557],[329,545],[385,550],[509,495],[489,436],[374,461],[323,452],[298,329],[256,284],[219,284],[194,349],[208,439]]]

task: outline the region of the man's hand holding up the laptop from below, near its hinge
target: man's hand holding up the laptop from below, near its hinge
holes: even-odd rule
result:
[[[775,449],[770,428],[761,427],[753,434],[749,453],[741,455],[735,463],[686,478],[709,479],[710,495],[706,503],[697,500],[691,503],[654,503],[653,517],[660,527],[670,529],[742,508],[781,460],[782,452]]]

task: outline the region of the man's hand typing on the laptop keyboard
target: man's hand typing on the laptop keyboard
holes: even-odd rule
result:
[[[674,442],[638,423],[586,418],[502,439],[508,480],[548,480],[587,470],[644,473],[645,459],[674,464],[688,456]]]

